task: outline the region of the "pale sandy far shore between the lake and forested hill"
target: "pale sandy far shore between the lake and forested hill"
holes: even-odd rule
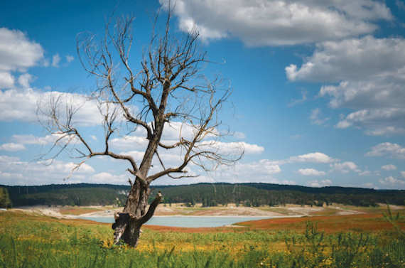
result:
[[[403,206],[390,205],[392,210],[404,208]],[[82,217],[113,218],[114,213],[120,213],[123,208],[112,206],[92,205],[92,206],[32,206],[13,208],[25,213],[35,213],[38,215],[50,216],[60,219],[78,219]],[[161,204],[155,211],[153,217],[268,217],[268,218],[291,218],[301,216],[319,216],[319,215],[354,215],[372,213],[377,211],[386,211],[386,206],[379,208],[362,208],[354,206],[345,206],[340,204],[329,205],[328,207],[311,207],[308,205],[285,205],[285,206],[262,206],[262,207],[243,207],[228,206],[202,207],[195,205],[187,207],[183,204],[166,205]]]

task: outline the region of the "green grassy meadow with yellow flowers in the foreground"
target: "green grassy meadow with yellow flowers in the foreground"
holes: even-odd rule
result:
[[[109,224],[2,211],[0,267],[405,267],[404,215],[145,226],[132,249],[112,245]]]

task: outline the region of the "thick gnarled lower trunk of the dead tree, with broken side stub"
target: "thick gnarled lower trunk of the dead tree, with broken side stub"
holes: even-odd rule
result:
[[[162,200],[162,195],[159,192],[146,212],[149,194],[149,186],[136,180],[126,199],[123,212],[114,215],[115,223],[112,225],[114,244],[122,240],[131,247],[138,245],[141,226],[153,216],[156,207]]]

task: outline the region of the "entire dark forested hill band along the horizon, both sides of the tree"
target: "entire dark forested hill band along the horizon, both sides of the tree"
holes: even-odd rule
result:
[[[24,205],[123,205],[129,186],[112,184],[52,184],[46,186],[0,186],[7,189],[13,206]],[[164,203],[204,206],[237,205],[346,205],[377,203],[405,205],[405,191],[328,186],[313,188],[269,183],[198,183],[183,186],[153,186]],[[153,198],[154,194],[151,194]],[[117,199],[118,198],[118,199]]]

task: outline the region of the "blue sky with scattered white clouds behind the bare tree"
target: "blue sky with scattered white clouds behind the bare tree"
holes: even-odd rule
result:
[[[127,183],[126,164],[90,159],[78,171],[72,152],[38,159],[53,136],[36,108],[65,92],[83,104],[96,85],[80,65],[76,36],[102,35],[105,22],[135,16],[131,62],[142,49],[160,1],[9,1],[0,9],[0,183]],[[244,158],[198,178],[156,184],[264,182],[304,186],[405,188],[404,1],[178,0],[171,31],[196,27],[212,63],[205,73],[232,85],[222,122]],[[97,109],[78,115],[94,146]],[[166,133],[170,137],[173,133]],[[139,154],[141,134],[114,136],[113,148]],[[139,141],[139,143],[137,143]],[[232,148],[231,148],[232,149]],[[50,155],[48,154],[48,157]],[[169,162],[170,155],[165,156]]]

